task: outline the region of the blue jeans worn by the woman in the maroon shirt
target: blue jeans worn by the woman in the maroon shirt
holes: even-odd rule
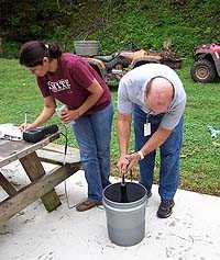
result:
[[[88,199],[102,200],[102,190],[110,184],[110,140],[112,105],[90,115],[82,115],[72,125],[80,150],[88,182]]]

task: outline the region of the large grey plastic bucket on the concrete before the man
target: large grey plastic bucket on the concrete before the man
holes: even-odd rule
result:
[[[108,235],[118,246],[133,246],[145,236],[146,189],[134,182],[127,182],[128,202],[121,202],[121,183],[103,190],[103,205]]]

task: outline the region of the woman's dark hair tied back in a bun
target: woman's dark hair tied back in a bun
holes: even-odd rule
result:
[[[41,41],[26,42],[20,49],[20,64],[34,67],[43,64],[43,58],[59,58],[62,50],[57,44],[44,44]]]

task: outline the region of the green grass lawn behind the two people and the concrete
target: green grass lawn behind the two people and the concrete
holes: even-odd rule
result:
[[[180,188],[220,195],[220,135],[211,138],[207,128],[210,124],[220,129],[220,83],[193,82],[189,76],[190,61],[186,60],[183,69],[178,71],[187,92]],[[111,143],[112,174],[118,174],[117,88],[111,92],[116,109]],[[25,112],[28,121],[31,122],[41,112],[42,99],[35,79],[15,59],[0,59],[0,123],[21,124]],[[59,122],[54,116],[50,123]],[[69,145],[76,146],[70,132],[68,137]],[[64,143],[64,139],[61,138],[58,142]],[[157,170],[158,159],[155,182],[157,182]]]

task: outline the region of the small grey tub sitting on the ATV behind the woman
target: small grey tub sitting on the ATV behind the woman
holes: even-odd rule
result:
[[[98,54],[98,41],[75,41],[75,53],[81,56],[94,56]]]

